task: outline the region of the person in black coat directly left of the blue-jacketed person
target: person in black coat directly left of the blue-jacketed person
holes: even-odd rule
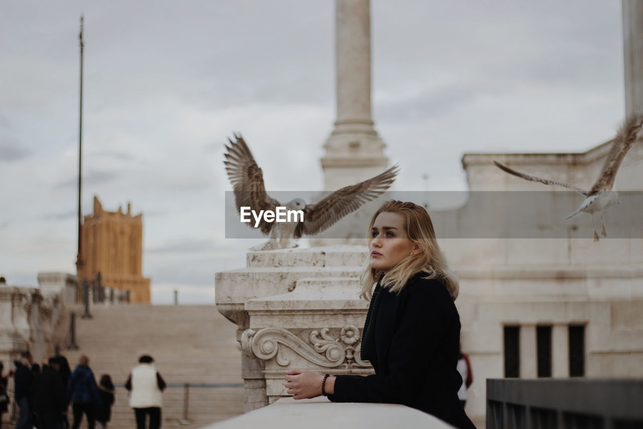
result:
[[[49,365],[33,381],[33,410],[39,429],[61,429],[67,408],[67,392],[60,375],[60,362],[50,357]]]

